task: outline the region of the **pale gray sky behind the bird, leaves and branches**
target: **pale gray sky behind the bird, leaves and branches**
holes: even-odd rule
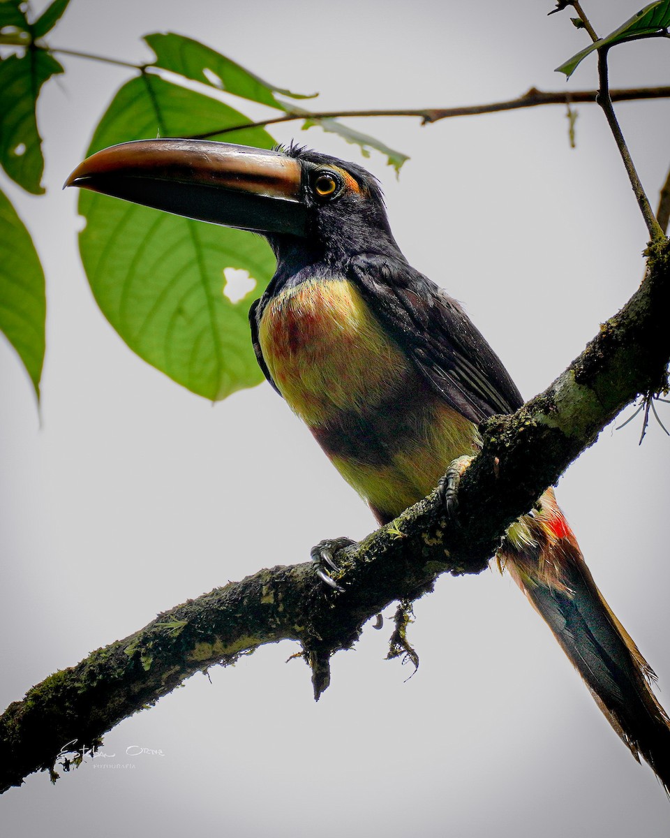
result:
[[[149,59],[140,36],[173,30],[277,85],[321,91],[315,107],[450,106],[563,89],[553,68],[586,36],[567,13],[547,18],[551,7],[72,0],[50,43],[135,61]],[[590,0],[587,10],[605,33],[637,5]],[[374,526],[268,385],[213,407],[131,354],[97,310],[76,249],[77,196],[60,186],[129,74],[62,61],[67,73],[39,112],[47,197],[2,178],[49,296],[41,428],[0,342],[3,706],[163,609]],[[667,42],[616,50],[611,83],[667,84],[667,61]],[[591,59],[569,86],[594,84]],[[655,203],[667,102],[618,110]],[[564,369],[641,277],[647,236],[626,174],[600,112],[579,113],[576,150],[560,107],[423,128],[353,122],[410,154],[397,181],[379,156],[363,161],[384,181],[396,238],[466,304],[524,396]],[[274,135],[361,162],[320,129]],[[642,447],[639,434],[637,420],[607,428],[558,496],[670,706],[670,441],[653,423]],[[103,748],[116,756],[86,760],[55,787],[41,774],[5,794],[3,834],[667,838],[662,789],[508,577],[445,578],[415,614],[411,680],[383,660],[388,623],[338,654],[317,705],[307,667],[285,663],[295,645],[260,649],[116,727]],[[164,756],[132,756],[132,746]]]

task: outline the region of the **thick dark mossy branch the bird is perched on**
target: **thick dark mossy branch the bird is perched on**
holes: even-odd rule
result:
[[[667,385],[670,246],[648,251],[641,287],[565,372],[513,416],[482,427],[482,453],[466,471],[457,514],[435,493],[338,554],[335,594],[309,563],[262,570],[160,614],[145,629],[50,675],[0,717],[0,789],[95,747],[131,714],[198,670],[229,664],[261,644],[292,639],[312,663],[317,696],[329,656],[394,600],[430,591],[441,573],[487,566],[508,525],[528,511],[600,430],[638,394]],[[76,759],[75,759],[76,762]]]

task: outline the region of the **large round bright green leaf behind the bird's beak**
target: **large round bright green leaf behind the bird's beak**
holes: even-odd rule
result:
[[[188,137],[240,122],[245,116],[209,96],[142,75],[118,91],[89,153],[116,142]],[[260,128],[232,132],[226,140],[274,145]],[[80,213],[87,219],[80,251],[90,287],[134,352],[212,401],[260,383],[247,318],[274,272],[265,241],[85,190]],[[254,290],[240,300],[224,293],[229,268],[255,279]]]

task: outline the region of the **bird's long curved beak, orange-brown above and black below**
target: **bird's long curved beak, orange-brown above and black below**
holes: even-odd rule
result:
[[[242,230],[307,235],[301,166],[281,152],[208,140],[123,142],[85,159],[65,186]]]

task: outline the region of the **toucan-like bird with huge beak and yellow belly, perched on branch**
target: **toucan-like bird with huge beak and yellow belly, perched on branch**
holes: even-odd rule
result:
[[[250,311],[258,362],[380,524],[477,453],[480,422],[523,403],[461,306],[408,264],[378,181],[354,163],[161,139],[95,153],[68,185],[265,235],[277,266]],[[595,586],[553,489],[497,558],[670,792],[670,721],[652,670]]]

